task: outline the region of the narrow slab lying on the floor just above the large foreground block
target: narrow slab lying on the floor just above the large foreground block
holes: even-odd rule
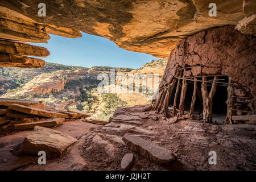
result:
[[[47,119],[44,121],[39,122],[31,122],[31,123],[22,123],[14,125],[15,130],[26,130],[26,129],[34,129],[35,126],[42,126],[42,127],[53,127],[57,124],[64,122],[65,118],[54,118],[54,119]]]

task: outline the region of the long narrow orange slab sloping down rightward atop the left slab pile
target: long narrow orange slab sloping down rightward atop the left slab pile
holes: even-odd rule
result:
[[[67,114],[56,113],[56,112],[42,110],[42,109],[36,109],[33,107],[23,106],[19,104],[10,105],[9,109],[13,109],[26,114],[39,115],[46,118],[69,118],[69,115]]]

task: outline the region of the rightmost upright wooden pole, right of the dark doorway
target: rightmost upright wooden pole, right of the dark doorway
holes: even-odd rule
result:
[[[231,84],[231,77],[229,77],[229,84]],[[228,99],[226,100],[226,119],[224,120],[224,124],[233,124],[232,122],[232,115],[234,109],[234,102],[232,101],[233,95],[233,88],[232,86],[228,86]]]

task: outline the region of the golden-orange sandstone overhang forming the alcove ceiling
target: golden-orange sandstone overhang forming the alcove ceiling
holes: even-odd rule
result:
[[[3,0],[0,2],[3,17],[0,22],[5,26],[0,31],[0,38],[47,42],[47,33],[75,38],[81,36],[80,30],[108,38],[130,51],[167,59],[181,39],[208,28],[236,25],[241,21],[237,30],[255,35],[255,1],[216,0],[216,17],[208,15],[211,2],[44,1],[47,14],[39,17],[38,1]],[[12,24],[14,30],[11,29]]]

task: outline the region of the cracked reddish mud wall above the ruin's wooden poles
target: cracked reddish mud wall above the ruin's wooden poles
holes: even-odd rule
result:
[[[234,30],[234,26],[202,31],[177,44],[171,52],[160,93],[170,84],[178,68],[189,68],[186,76],[221,74],[234,81],[234,92],[240,97],[251,97],[249,106],[256,104],[256,38]]]

